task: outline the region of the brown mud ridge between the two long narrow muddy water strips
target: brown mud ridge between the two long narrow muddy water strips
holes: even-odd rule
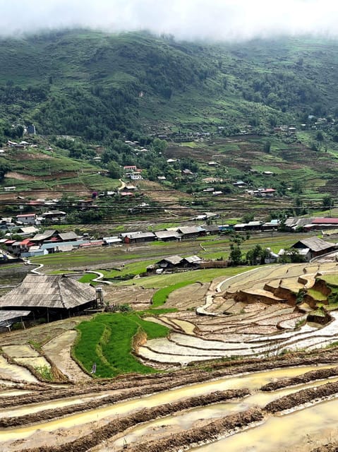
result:
[[[134,427],[137,424],[150,422],[158,419],[159,417],[172,415],[175,412],[182,410],[206,406],[211,403],[220,403],[232,398],[242,398],[244,396],[248,396],[249,393],[250,391],[247,389],[217,391],[215,393],[207,394],[206,396],[179,400],[178,402],[167,403],[166,405],[161,405],[155,408],[144,408],[143,410],[138,410],[131,415],[109,422],[109,424],[104,425],[104,427],[93,429],[90,434],[68,442],[67,444],[61,444],[60,446],[40,446],[37,448],[25,449],[25,452],[84,452],[94,446],[97,446],[97,444],[100,444],[102,441],[111,438],[111,436],[122,433],[126,429]],[[236,427],[236,424],[234,426]]]

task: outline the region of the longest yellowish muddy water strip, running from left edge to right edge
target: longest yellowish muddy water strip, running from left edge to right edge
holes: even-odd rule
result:
[[[98,408],[97,410],[92,410],[90,412],[78,413],[76,415],[71,415],[68,417],[64,417],[63,419],[54,420],[51,422],[34,424],[28,427],[0,430],[0,441],[23,439],[30,436],[30,434],[34,434],[37,431],[37,429],[44,430],[46,432],[53,432],[54,430],[60,428],[70,428],[81,424],[85,424],[87,422],[102,420],[104,417],[126,415],[126,413],[131,412],[133,410],[155,407],[158,405],[163,405],[165,403],[174,402],[181,398],[199,396],[201,394],[206,394],[213,391],[224,391],[226,389],[236,389],[236,388],[250,388],[251,390],[255,390],[260,388],[260,386],[269,383],[270,381],[273,381],[274,379],[296,376],[299,374],[303,374],[307,371],[328,367],[334,367],[334,365],[328,364],[326,366],[308,366],[308,367],[295,367],[289,369],[276,369],[273,371],[258,372],[255,374],[236,376],[230,378],[228,377],[225,379],[219,379],[217,381],[210,381],[207,383],[193,384],[191,386],[186,386],[184,388],[173,389],[170,391],[165,391],[164,393],[155,394],[153,396],[143,397],[140,398],[139,400],[128,400],[126,402],[116,403],[115,405],[109,405],[104,408]],[[76,404],[81,403],[82,399],[81,398],[64,399],[59,402],[63,403],[64,405],[69,405],[70,400],[72,403]],[[255,403],[258,402],[256,401]],[[54,403],[35,404],[35,412],[39,409],[52,410],[54,408],[55,408]],[[23,408],[23,410],[25,409],[26,408]],[[16,410],[16,415],[18,415],[19,411],[20,408]],[[11,412],[13,413],[13,409],[11,410]]]

